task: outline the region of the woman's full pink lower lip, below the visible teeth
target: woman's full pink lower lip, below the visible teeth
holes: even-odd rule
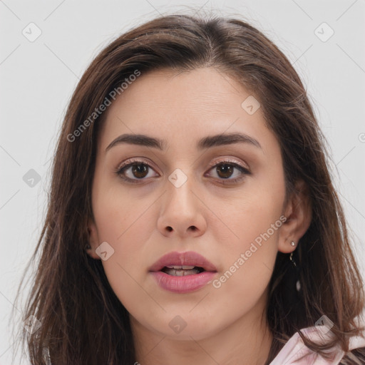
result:
[[[186,275],[184,277],[174,277],[162,271],[150,272],[158,285],[169,292],[184,294],[195,292],[210,282],[217,272],[200,272],[200,274]]]

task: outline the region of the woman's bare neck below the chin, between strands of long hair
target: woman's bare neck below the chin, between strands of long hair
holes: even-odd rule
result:
[[[257,308],[198,341],[150,331],[130,316],[136,362],[141,365],[264,365],[272,344],[266,316]]]

